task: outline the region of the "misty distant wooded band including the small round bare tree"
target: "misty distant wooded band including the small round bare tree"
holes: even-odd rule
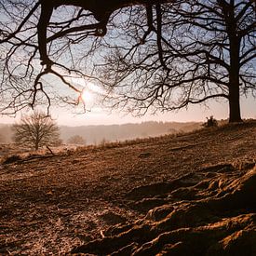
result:
[[[0,143],[13,141],[19,145],[34,147],[36,150],[42,145],[51,146],[61,143],[97,145],[102,141],[134,140],[186,132],[200,127],[201,123],[195,122],[156,121],[109,126],[60,127],[50,116],[34,112],[32,115],[24,115],[20,122],[14,125],[0,128]]]

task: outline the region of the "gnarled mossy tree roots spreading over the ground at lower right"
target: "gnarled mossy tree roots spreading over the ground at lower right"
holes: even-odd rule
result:
[[[156,203],[158,207],[138,222],[114,226],[102,239],[72,253],[256,255],[253,166],[255,163],[243,165],[246,169],[218,165],[174,182],[134,189],[127,196],[130,206],[146,209]]]

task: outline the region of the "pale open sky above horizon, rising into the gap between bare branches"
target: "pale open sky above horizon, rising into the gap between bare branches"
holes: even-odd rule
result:
[[[51,81],[52,82],[52,81]],[[81,114],[83,107],[78,106],[74,108],[51,108],[51,115],[56,119],[59,125],[64,126],[88,126],[88,125],[111,125],[111,124],[124,124],[124,123],[141,123],[144,121],[164,121],[164,122],[188,122],[199,121],[205,122],[206,117],[213,115],[217,119],[228,118],[228,102],[224,100],[208,101],[208,107],[205,105],[189,105],[188,109],[182,109],[178,112],[158,113],[151,115],[150,112],[142,117],[134,117],[132,115],[125,115],[124,113],[112,112],[110,110],[103,111],[97,104],[98,95],[103,95],[104,91],[91,84],[86,83],[84,80],[76,79],[72,81],[79,84],[85,90],[85,101],[87,101],[88,109],[90,112]],[[53,83],[53,82],[52,82]],[[57,85],[57,81],[54,81]],[[67,91],[69,93],[69,91]],[[46,109],[45,109],[46,111]],[[77,114],[80,113],[80,114]],[[28,111],[23,112],[24,115],[29,114]],[[20,119],[20,113],[16,118],[0,115],[0,123],[14,123]],[[248,97],[241,99],[241,115],[242,118],[256,119],[256,99]]]

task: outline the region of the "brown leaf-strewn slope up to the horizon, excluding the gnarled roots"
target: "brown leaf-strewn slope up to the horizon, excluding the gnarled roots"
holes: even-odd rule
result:
[[[256,123],[0,167],[0,254],[65,253],[133,222],[128,193],[217,163],[256,159]]]

